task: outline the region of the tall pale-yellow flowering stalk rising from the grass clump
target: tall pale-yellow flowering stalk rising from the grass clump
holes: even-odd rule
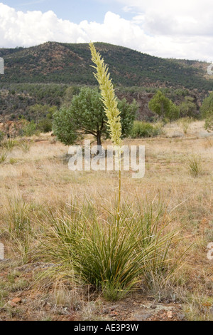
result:
[[[89,43],[89,48],[92,55],[92,62],[95,66],[96,73],[94,77],[99,83],[102,94],[102,101],[104,103],[104,110],[107,115],[107,125],[112,143],[116,148],[116,155],[119,158],[119,201],[117,209],[117,220],[120,217],[120,203],[121,203],[121,116],[118,109],[118,103],[114,93],[114,87],[111,83],[109,69],[104,63],[104,59],[97,52],[94,43]]]

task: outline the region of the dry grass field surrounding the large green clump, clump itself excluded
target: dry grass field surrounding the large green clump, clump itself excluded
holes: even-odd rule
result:
[[[87,212],[85,220],[96,215],[107,222],[116,204],[117,172],[70,171],[68,148],[50,135],[15,141],[7,150],[0,148],[0,242],[5,246],[0,320],[213,319],[213,260],[207,258],[213,242],[213,137],[202,122],[191,123],[186,134],[173,123],[158,138],[124,140],[146,146],[146,174],[132,179],[130,172],[122,173],[122,208],[131,207],[135,215],[141,205],[157,217],[162,207],[159,227],[167,222],[166,231],[178,231],[168,250],[177,267],[165,281],[151,268],[116,302],[73,279],[67,268],[55,273],[57,257],[51,259],[43,240],[51,242],[51,215],[70,215],[72,206]]]

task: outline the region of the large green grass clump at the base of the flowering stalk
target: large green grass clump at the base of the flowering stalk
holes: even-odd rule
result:
[[[164,277],[172,274],[168,249],[175,232],[161,222],[160,208],[154,214],[152,206],[133,212],[126,205],[120,220],[116,213],[102,220],[91,204],[90,210],[88,215],[80,207],[72,207],[70,215],[48,215],[48,225],[43,222],[43,229],[50,229],[42,242],[42,254],[60,264],[60,273],[70,271],[102,290],[109,300],[124,297],[148,272],[158,269],[159,275],[163,269]]]

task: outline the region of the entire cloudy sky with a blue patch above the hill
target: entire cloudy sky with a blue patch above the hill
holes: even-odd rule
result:
[[[212,0],[0,0],[0,48],[99,41],[213,61]]]

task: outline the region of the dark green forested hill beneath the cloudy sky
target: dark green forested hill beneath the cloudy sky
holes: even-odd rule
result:
[[[129,48],[96,43],[117,86],[149,86],[213,91],[208,63],[158,58]],[[96,85],[87,43],[48,42],[31,48],[1,48],[4,83],[67,83]]]

